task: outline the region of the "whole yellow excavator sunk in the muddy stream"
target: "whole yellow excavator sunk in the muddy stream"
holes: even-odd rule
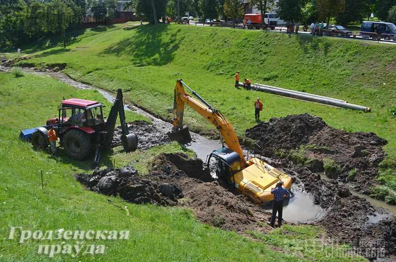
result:
[[[184,90],[189,89],[191,93]],[[198,114],[212,123],[220,133],[223,147],[214,150],[207,157],[206,165],[210,159],[217,162],[216,175],[230,182],[238,192],[250,197],[254,203],[265,205],[274,199],[271,188],[278,181],[288,190],[292,186],[292,178],[271,167],[258,158],[245,160],[244,153],[239,143],[237,134],[231,124],[217,109],[210,106],[197,92],[188,87],[181,79],[177,80],[174,95],[174,118],[172,131],[169,136],[175,140],[191,139],[188,127],[183,126],[184,105],[188,104]],[[228,148],[224,146],[223,140]]]

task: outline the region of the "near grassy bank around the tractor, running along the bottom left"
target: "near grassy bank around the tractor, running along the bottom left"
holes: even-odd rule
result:
[[[255,242],[234,232],[223,231],[199,223],[190,209],[135,205],[119,199],[87,191],[74,174],[92,172],[91,159],[69,160],[62,150],[52,159],[46,152],[34,151],[28,142],[18,139],[19,131],[38,126],[53,115],[62,96],[80,97],[109,103],[94,90],[77,90],[46,76],[25,74],[15,78],[0,72],[0,260],[1,261],[305,261],[322,258],[355,261],[343,255],[347,246],[325,247],[316,238],[322,231],[312,226],[290,226],[269,234],[263,242]],[[54,111],[55,110],[55,111]],[[127,120],[147,120],[126,112]],[[177,143],[152,148],[148,152],[125,154],[120,148],[102,154],[102,167],[133,164],[141,174],[147,172],[150,159],[160,152],[185,151]],[[187,151],[188,154],[192,154]],[[138,162],[139,161],[139,162]],[[40,170],[44,187],[41,189]],[[124,210],[109,205],[107,199],[127,206]],[[130,230],[128,240],[82,240],[84,249],[76,258],[70,255],[38,253],[39,245],[76,245],[76,240],[28,240],[18,243],[7,239],[10,226],[24,230]],[[264,226],[264,225],[263,225]],[[293,232],[299,232],[298,234]],[[18,231],[17,235],[20,232]],[[253,233],[251,233],[253,234]],[[290,235],[291,234],[291,235]],[[262,238],[261,235],[256,238]],[[308,243],[308,246],[307,244]],[[105,245],[104,255],[81,255],[88,245]],[[281,252],[267,244],[279,246]],[[80,243],[81,245],[81,243]],[[310,248],[312,246],[312,248]],[[295,257],[292,252],[297,252]],[[326,254],[333,256],[323,257]],[[75,252],[74,252],[75,253]],[[303,258],[303,259],[301,259]]]

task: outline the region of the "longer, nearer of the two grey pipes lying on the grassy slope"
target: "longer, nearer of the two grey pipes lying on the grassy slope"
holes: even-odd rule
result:
[[[240,83],[239,86],[244,87],[244,84]],[[360,110],[360,111],[364,111],[364,112],[371,111],[371,109],[369,107],[348,104],[346,102],[340,102],[340,101],[335,101],[335,100],[331,100],[331,99],[327,99],[327,98],[310,96],[307,94],[299,94],[299,93],[285,91],[285,90],[273,89],[273,88],[268,88],[268,87],[260,87],[260,86],[256,86],[256,85],[250,86],[250,89],[267,92],[267,93],[272,93],[272,94],[277,94],[277,95],[282,95],[282,96],[287,96],[287,97],[293,97],[293,98],[311,101],[311,102],[317,102],[317,103],[321,103],[321,104],[334,105],[334,106],[348,108],[348,109],[352,109],[352,110]]]

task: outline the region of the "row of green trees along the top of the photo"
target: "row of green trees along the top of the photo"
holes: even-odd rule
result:
[[[251,0],[262,14],[274,0]],[[244,0],[132,0],[125,4],[150,23],[161,17],[175,19],[189,12],[205,19],[234,20],[243,17]],[[1,0],[0,48],[24,44],[60,34],[66,46],[65,31],[83,23],[88,10],[97,19],[112,18],[116,0]],[[339,24],[361,22],[372,13],[381,20],[396,23],[396,0],[278,0],[277,16],[283,20],[311,23],[335,19]]]

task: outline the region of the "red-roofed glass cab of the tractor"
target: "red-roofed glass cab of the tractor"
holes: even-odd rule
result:
[[[93,128],[104,123],[102,105],[85,99],[67,99],[59,108],[59,128],[83,127]]]

